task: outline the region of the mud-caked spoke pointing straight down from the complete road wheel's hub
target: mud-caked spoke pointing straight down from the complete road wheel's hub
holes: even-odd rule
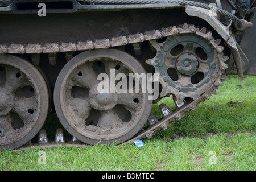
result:
[[[98,126],[101,129],[116,129],[121,123],[122,121],[113,109],[101,111],[101,117],[98,121]]]

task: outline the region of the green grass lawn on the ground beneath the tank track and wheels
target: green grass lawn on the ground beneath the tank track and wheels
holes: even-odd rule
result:
[[[60,146],[0,152],[1,170],[255,170],[256,168],[256,77],[228,76],[217,95],[186,114],[167,130],[133,144]],[[232,103],[230,104],[230,101]],[[158,105],[172,107],[164,98]],[[39,152],[46,164],[39,164]],[[210,151],[216,154],[211,155]],[[216,159],[216,164],[213,158]]]

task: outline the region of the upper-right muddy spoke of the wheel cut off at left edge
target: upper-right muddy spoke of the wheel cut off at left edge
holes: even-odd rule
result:
[[[19,71],[18,69],[7,66],[6,69],[6,88],[10,92],[20,89],[24,86],[32,86],[31,82],[28,81],[28,78]]]

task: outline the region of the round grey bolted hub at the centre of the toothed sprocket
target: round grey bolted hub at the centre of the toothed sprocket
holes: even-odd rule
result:
[[[176,60],[176,69],[183,75],[192,75],[199,66],[196,55],[184,52]]]

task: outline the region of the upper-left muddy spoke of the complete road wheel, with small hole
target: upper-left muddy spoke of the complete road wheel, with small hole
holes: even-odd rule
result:
[[[97,83],[97,76],[92,69],[92,64],[82,64],[76,68],[72,73],[72,80],[74,85],[83,88],[91,88]]]

